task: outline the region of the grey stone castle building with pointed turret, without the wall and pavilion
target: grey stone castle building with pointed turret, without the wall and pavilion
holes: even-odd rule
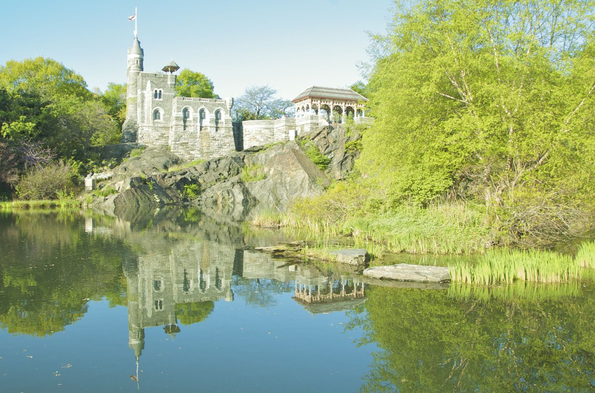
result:
[[[177,64],[172,61],[163,68],[164,73],[145,72],[145,52],[136,37],[127,58],[122,142],[169,146],[174,154],[189,160],[236,151],[231,123],[233,99],[176,96]]]

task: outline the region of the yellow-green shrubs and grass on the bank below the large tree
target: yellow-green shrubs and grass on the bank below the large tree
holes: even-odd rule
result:
[[[380,256],[471,254],[483,252],[493,233],[479,205],[459,202],[428,207],[397,205],[383,210],[369,189],[339,182],[317,198],[297,201],[281,226],[322,236],[350,235],[356,244]]]

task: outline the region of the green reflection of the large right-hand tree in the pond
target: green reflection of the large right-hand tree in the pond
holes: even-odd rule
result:
[[[534,296],[369,288],[347,328],[381,348],[360,390],[593,389],[593,285],[559,288],[559,297],[551,287],[526,291]]]

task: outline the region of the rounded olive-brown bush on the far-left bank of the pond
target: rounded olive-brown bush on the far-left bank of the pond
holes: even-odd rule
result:
[[[46,166],[30,168],[17,185],[19,199],[56,199],[59,192],[70,193],[76,188],[78,174],[62,160]],[[64,195],[64,194],[62,194]]]

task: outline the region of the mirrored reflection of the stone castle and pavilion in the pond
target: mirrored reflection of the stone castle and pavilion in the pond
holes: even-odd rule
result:
[[[230,239],[237,236],[229,231],[222,236],[221,231],[205,233],[206,227],[174,240],[169,231],[169,238],[164,237],[163,229],[145,232],[142,241],[131,239],[124,230],[131,243],[143,245],[141,252],[125,256],[123,263],[129,346],[136,360],[145,348],[145,328],[162,326],[165,333],[175,335],[183,325],[201,322],[214,302],[234,300],[234,277],[248,282],[293,282],[293,299],[313,314],[347,310],[365,301],[364,283],[349,273],[323,273],[312,265],[274,260],[238,244],[239,239]]]

